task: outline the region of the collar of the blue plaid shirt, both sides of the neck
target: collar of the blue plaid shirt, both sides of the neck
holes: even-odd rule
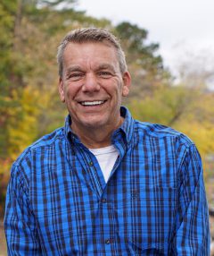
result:
[[[129,144],[131,139],[132,139],[132,134],[134,130],[134,120],[128,111],[127,107],[120,107],[120,115],[124,118],[123,124],[117,129],[112,136],[114,136],[118,132],[122,132],[125,135],[126,142]],[[70,129],[70,124],[71,124],[71,117],[70,115],[67,115],[65,119],[65,124],[64,124],[64,135],[66,138],[69,140],[78,140],[78,136],[72,132]],[[78,140],[79,141],[79,140]]]

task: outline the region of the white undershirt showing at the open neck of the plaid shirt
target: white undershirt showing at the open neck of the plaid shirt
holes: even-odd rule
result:
[[[113,166],[119,156],[118,150],[113,146],[108,146],[101,149],[89,149],[97,159],[103,172],[104,180],[107,183]]]

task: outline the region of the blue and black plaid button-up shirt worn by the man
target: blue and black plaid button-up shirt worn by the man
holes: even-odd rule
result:
[[[108,183],[65,126],[12,166],[4,228],[9,255],[210,255],[202,162],[192,141],[122,107]]]

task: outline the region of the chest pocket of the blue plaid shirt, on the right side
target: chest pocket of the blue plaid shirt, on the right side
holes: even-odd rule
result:
[[[136,253],[148,252],[139,255],[168,255],[176,209],[176,188],[139,186],[130,190],[118,209],[119,235],[126,237]]]

